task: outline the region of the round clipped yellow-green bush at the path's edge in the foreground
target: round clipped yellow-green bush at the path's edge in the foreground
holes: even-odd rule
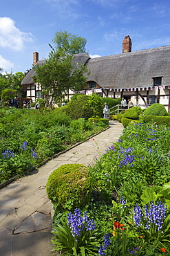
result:
[[[59,208],[81,208],[89,202],[89,170],[78,163],[61,165],[50,174],[46,190],[48,198]]]

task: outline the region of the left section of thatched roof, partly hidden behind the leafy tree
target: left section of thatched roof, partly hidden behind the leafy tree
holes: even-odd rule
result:
[[[78,64],[78,66],[80,66],[80,64],[86,64],[87,60],[89,60],[89,55],[87,53],[78,53],[75,54],[75,58],[73,60],[73,64]],[[42,66],[44,63],[46,62],[46,60],[40,60],[36,63],[39,64],[39,66]],[[36,71],[34,69],[31,69],[27,75],[25,75],[25,77],[23,78],[21,84],[32,84],[34,83],[34,80],[32,79],[32,77],[34,77],[36,75]]]

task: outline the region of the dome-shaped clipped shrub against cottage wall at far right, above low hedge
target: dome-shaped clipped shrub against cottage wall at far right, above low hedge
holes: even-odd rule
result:
[[[145,116],[167,116],[167,110],[162,104],[154,103],[143,112]]]

